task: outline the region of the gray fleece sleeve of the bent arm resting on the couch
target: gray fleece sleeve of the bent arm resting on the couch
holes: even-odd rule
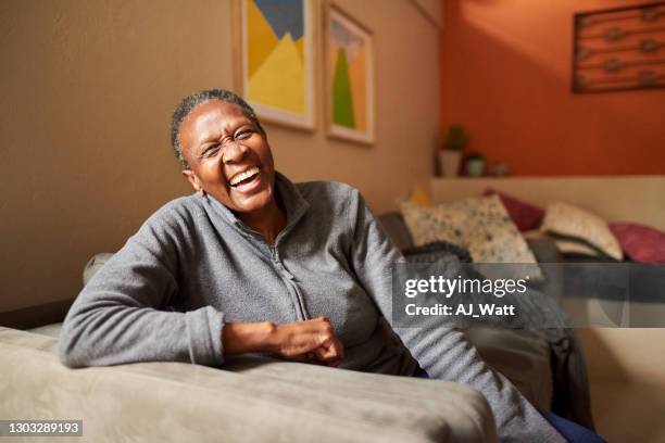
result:
[[[175,211],[158,211],[90,279],[60,332],[64,365],[223,363],[223,313],[211,306],[167,311],[178,292],[178,248],[186,225]]]

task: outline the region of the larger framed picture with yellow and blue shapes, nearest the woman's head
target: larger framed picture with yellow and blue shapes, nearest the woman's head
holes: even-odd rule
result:
[[[314,129],[312,0],[234,0],[235,87],[262,121]]]

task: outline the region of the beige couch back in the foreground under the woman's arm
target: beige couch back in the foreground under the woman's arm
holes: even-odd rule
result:
[[[0,327],[0,417],[83,419],[71,441],[497,440],[487,401],[462,384],[258,358],[68,369],[57,332]]]

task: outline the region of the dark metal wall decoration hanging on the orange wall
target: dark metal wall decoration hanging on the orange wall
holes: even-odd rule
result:
[[[665,88],[665,1],[575,14],[573,92]]]

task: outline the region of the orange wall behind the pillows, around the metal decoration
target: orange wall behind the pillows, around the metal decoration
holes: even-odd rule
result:
[[[665,174],[665,89],[573,94],[575,12],[617,0],[443,0],[441,127],[513,175]]]

